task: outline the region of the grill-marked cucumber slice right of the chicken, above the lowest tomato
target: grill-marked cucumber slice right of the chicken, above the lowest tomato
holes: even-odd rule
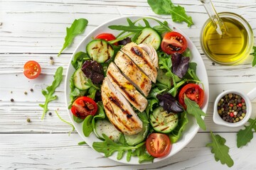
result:
[[[149,116],[149,122],[156,132],[169,133],[178,125],[178,114],[168,113],[160,106]]]

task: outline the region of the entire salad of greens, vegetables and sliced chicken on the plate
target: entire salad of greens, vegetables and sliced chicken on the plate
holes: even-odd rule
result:
[[[85,50],[77,50],[74,54],[70,62],[75,71],[69,77],[68,108],[73,113],[73,121],[82,127],[84,137],[95,135],[98,138],[92,142],[97,152],[102,152],[105,157],[114,154],[117,160],[123,159],[125,155],[126,162],[131,161],[132,157],[137,157],[139,163],[153,162],[155,158],[166,157],[176,149],[175,143],[183,137],[188,123],[194,123],[191,115],[203,130],[206,129],[203,122],[205,113],[201,109],[206,102],[205,89],[196,74],[197,63],[191,62],[193,52],[188,48],[188,40],[182,33],[171,29],[166,21],[150,17],[132,18],[126,18],[127,24],[109,24],[108,31],[105,29],[105,32],[90,37],[92,39],[86,38],[85,43],[82,43]],[[132,82],[133,77],[127,76],[132,72],[126,72],[128,65],[125,69],[118,65],[117,58],[127,49],[131,49],[134,56],[127,55],[129,57],[124,57],[125,60],[132,57],[144,60],[144,64],[131,60],[136,64],[130,68],[133,72],[133,68],[139,68],[136,72],[146,75],[146,78],[143,76],[138,79],[150,77],[146,84],[149,86],[147,92],[144,86]],[[145,56],[151,57],[148,62],[145,62]],[[113,81],[110,79],[110,69],[114,69],[112,65],[115,64],[120,73],[114,75],[116,79]],[[156,77],[149,76],[154,75],[154,72],[142,71],[146,64],[154,65],[150,68],[156,70]],[[108,85],[107,79],[112,80]],[[114,83],[119,83],[119,86],[114,86]],[[104,89],[106,86],[107,89]],[[127,94],[119,92],[124,89],[128,89],[128,92],[132,89],[137,96],[134,95],[132,100],[127,98]],[[106,94],[108,90],[110,93]],[[106,100],[105,94],[111,98]],[[119,96],[114,98],[114,95]],[[138,96],[144,100],[132,103]],[[124,118],[112,108],[112,114],[118,120],[127,121],[124,127],[129,130],[120,128],[122,126],[110,117],[107,102],[112,102],[111,107],[121,108],[119,113],[127,114]],[[123,102],[128,102],[132,111]],[[129,124],[131,118],[134,124]],[[131,130],[134,128],[132,125],[138,125],[139,130]]]

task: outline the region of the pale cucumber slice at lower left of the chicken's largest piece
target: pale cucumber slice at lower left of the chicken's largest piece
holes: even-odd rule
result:
[[[110,121],[105,119],[96,121],[94,132],[99,139],[103,140],[104,138],[102,134],[105,134],[114,142],[118,142],[120,136],[122,135],[122,132],[119,132],[117,128],[115,128],[114,125],[110,123]]]

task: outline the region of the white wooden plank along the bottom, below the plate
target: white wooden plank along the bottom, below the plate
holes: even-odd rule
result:
[[[255,169],[256,138],[242,149],[236,147],[235,133],[218,133],[227,140],[232,169]],[[0,134],[0,169],[229,169],[215,162],[207,133],[198,133],[181,150],[163,162],[149,165],[120,164],[103,157],[81,141],[76,134]],[[15,153],[15,154],[14,154]]]

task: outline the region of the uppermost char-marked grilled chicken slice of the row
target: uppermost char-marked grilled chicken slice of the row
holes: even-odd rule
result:
[[[136,43],[130,42],[124,47],[121,48],[121,51],[124,54],[128,55],[128,57],[135,63],[137,66],[142,69],[142,71],[153,81],[156,83],[157,70],[154,66],[149,55],[142,50]]]

